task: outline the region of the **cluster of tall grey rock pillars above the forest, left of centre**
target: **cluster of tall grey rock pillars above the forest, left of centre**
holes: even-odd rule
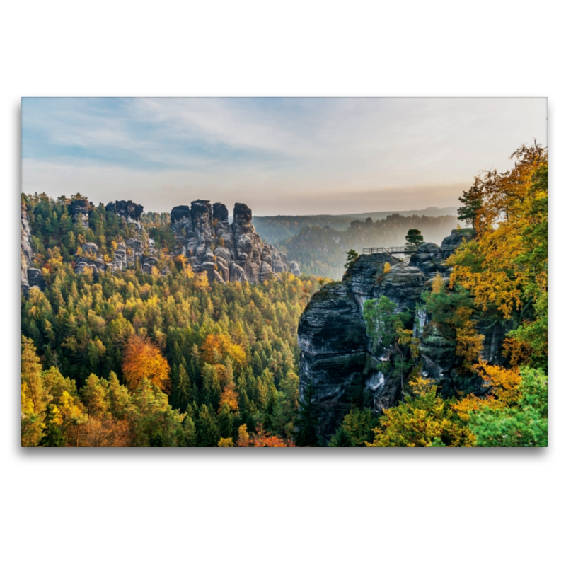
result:
[[[206,272],[210,282],[263,282],[271,273],[290,271],[300,275],[295,262],[267,243],[262,243],[251,222],[252,212],[237,203],[233,221],[221,202],[195,200],[171,211],[171,228],[177,240],[175,254],[183,254],[195,272]]]

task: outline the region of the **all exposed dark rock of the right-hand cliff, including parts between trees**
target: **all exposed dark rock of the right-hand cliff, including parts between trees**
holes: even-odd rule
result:
[[[450,242],[456,240],[449,238]],[[373,344],[366,332],[362,313],[368,299],[386,296],[399,313],[412,309],[407,326],[420,338],[422,374],[437,383],[441,395],[485,392],[481,379],[462,377],[457,371],[455,337],[446,335],[417,306],[427,281],[430,284],[437,271],[447,275],[449,268],[442,255],[451,255],[454,249],[424,243],[409,264],[388,253],[362,255],[342,282],[325,285],[313,295],[299,321],[299,392],[304,398],[308,384],[312,384],[318,432],[324,439],[330,438],[352,406],[369,407],[379,414],[398,403],[402,393],[401,377],[389,363],[399,359],[398,352]],[[383,270],[386,262],[391,265],[387,273]],[[481,319],[477,329],[485,335],[483,359],[504,363],[502,341],[508,329]]]

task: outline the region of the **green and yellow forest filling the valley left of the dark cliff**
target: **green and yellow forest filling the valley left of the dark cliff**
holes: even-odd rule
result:
[[[100,205],[83,229],[69,199],[23,202],[45,279],[22,294],[23,446],[293,444],[296,325],[312,278],[209,284],[168,255],[166,215],[151,213],[143,223],[169,272],[75,273],[81,243],[110,260],[127,222]]]

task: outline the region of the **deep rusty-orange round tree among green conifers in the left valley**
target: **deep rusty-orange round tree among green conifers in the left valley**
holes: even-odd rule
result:
[[[122,371],[131,391],[137,389],[144,378],[166,393],[171,387],[169,364],[159,348],[147,337],[129,337],[124,350]]]

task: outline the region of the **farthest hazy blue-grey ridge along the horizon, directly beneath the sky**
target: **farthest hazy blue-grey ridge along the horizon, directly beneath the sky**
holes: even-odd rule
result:
[[[456,207],[428,207],[418,210],[397,210],[385,212],[360,212],[358,214],[315,214],[311,216],[254,216],[253,224],[261,237],[267,242],[276,244],[298,234],[306,226],[328,226],[334,230],[346,230],[354,220],[372,221],[386,219],[387,216],[456,216]],[[456,227],[456,226],[454,226]],[[393,245],[393,244],[392,244]]]

